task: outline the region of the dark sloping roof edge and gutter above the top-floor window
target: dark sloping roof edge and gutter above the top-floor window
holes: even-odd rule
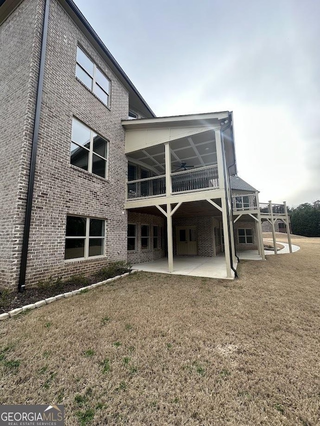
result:
[[[138,92],[138,90],[135,88],[129,77],[126,75],[126,73],[123,71],[121,66],[118,64],[118,62],[115,60],[115,58],[112,56],[111,52],[107,49],[103,41],[100,39],[100,37],[97,35],[97,33],[94,31],[92,26],[89,24],[89,22],[86,20],[84,15],[81,13],[79,8],[76,6],[76,4],[72,0],[64,0],[68,6],[72,9],[72,11],[76,14],[76,16],[80,19],[80,21],[83,23],[83,25],[86,27],[90,35],[94,38],[94,40],[98,43],[99,47],[103,50],[103,52],[108,56],[108,58],[113,62],[115,68],[120,72],[122,77],[125,79],[125,81],[128,83],[128,85],[131,87],[131,89],[134,91],[134,93],[137,95],[137,97],[140,99],[140,101],[144,104],[144,106],[147,108],[147,110],[150,112],[153,117],[156,115],[152,111],[152,109],[149,107],[149,105],[145,102],[141,94]]]

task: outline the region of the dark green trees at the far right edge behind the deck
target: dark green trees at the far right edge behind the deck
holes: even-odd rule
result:
[[[292,234],[304,237],[320,237],[320,200],[288,208]]]

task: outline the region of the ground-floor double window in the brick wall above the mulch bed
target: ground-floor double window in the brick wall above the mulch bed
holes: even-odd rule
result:
[[[104,254],[105,221],[80,216],[66,217],[64,259],[87,259]]]

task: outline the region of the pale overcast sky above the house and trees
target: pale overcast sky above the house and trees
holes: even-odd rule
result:
[[[320,199],[320,1],[75,3],[157,116],[233,111],[261,202]]]

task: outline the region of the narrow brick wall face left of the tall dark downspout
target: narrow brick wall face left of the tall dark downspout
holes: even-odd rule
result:
[[[0,287],[18,281],[43,1],[23,1],[0,26]]]

